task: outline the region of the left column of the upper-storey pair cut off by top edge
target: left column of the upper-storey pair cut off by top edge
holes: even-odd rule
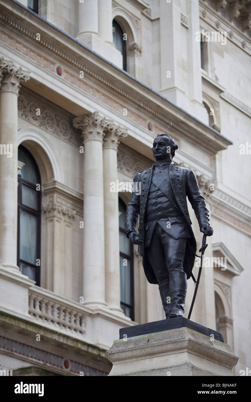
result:
[[[85,43],[86,35],[98,33],[98,0],[79,2],[79,33],[77,39]],[[90,39],[91,40],[91,39]],[[87,45],[87,43],[85,43]]]

